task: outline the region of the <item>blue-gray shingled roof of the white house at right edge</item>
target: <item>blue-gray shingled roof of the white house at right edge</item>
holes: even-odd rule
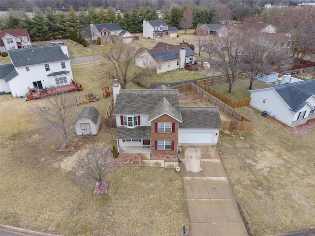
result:
[[[293,112],[298,112],[315,94],[315,80],[306,80],[272,87]]]

